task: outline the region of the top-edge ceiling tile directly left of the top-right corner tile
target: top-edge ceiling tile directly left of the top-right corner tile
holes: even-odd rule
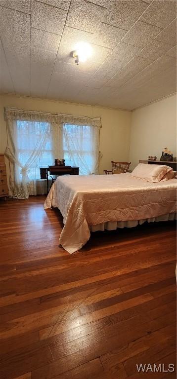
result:
[[[103,22],[129,30],[149,4],[139,0],[110,1]]]

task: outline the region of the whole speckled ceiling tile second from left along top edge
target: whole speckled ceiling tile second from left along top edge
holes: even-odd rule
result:
[[[31,26],[46,32],[61,35],[67,11],[39,1],[31,3]]]

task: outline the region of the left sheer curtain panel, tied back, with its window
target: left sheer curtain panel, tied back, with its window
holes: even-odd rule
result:
[[[40,180],[40,166],[53,162],[51,123],[41,114],[5,111],[8,147],[5,155],[10,163],[9,195],[28,198],[46,193]]]

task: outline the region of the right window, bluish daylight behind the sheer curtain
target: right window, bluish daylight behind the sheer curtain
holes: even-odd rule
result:
[[[93,127],[63,124],[63,155],[65,164],[80,167],[80,174],[94,171]]]

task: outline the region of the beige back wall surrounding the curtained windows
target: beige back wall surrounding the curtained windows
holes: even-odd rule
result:
[[[131,112],[12,95],[0,95],[0,153],[3,153],[7,146],[4,107],[89,117],[101,116],[100,151],[103,157],[100,162],[100,174],[103,174],[104,169],[111,169],[112,159],[127,161],[129,158]],[[6,164],[8,170],[8,161]]]

